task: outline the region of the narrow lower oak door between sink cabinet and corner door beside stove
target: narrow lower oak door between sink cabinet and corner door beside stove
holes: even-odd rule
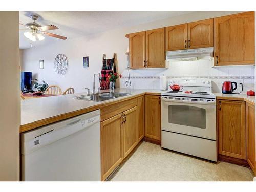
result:
[[[145,125],[145,110],[144,110],[144,96],[138,98],[138,142],[144,137]]]

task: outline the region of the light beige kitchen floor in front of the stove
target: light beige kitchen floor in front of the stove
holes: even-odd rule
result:
[[[246,167],[218,164],[162,150],[143,142],[112,181],[252,181]]]

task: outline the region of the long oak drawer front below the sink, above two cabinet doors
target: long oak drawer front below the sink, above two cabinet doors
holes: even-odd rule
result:
[[[100,121],[104,121],[119,113],[129,110],[134,106],[137,106],[137,104],[138,104],[138,98],[134,98],[134,99],[120,101],[120,102],[105,106],[104,108],[100,109]]]

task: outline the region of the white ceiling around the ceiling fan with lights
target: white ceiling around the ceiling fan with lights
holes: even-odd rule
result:
[[[120,27],[130,27],[142,23],[153,22],[169,17],[190,13],[191,11],[20,11],[20,23],[32,22],[30,15],[39,16],[37,23],[40,25],[53,24],[59,29],[49,32],[74,38],[89,35]],[[20,26],[20,28],[24,28]],[[30,40],[19,32],[19,48],[31,47]],[[32,47],[51,44],[61,39],[46,37],[43,41],[32,43]]]

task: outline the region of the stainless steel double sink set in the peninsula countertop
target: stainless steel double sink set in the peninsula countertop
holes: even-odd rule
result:
[[[100,102],[100,101],[105,101],[105,100],[123,97],[127,95],[131,95],[131,93],[108,92],[108,93],[99,93],[99,94],[91,94],[91,95],[81,95],[78,97],[74,97],[74,99]]]

